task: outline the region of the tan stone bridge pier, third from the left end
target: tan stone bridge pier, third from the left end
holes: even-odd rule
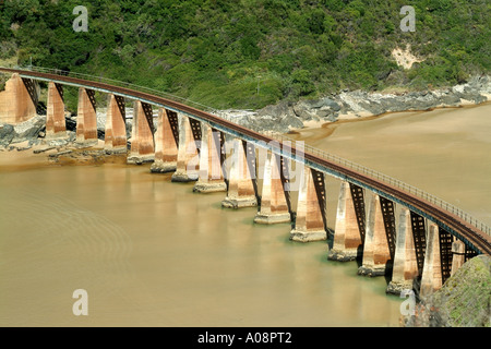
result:
[[[81,87],[79,88],[79,109],[76,115],[76,143],[95,145],[97,142],[95,93],[92,89]]]

